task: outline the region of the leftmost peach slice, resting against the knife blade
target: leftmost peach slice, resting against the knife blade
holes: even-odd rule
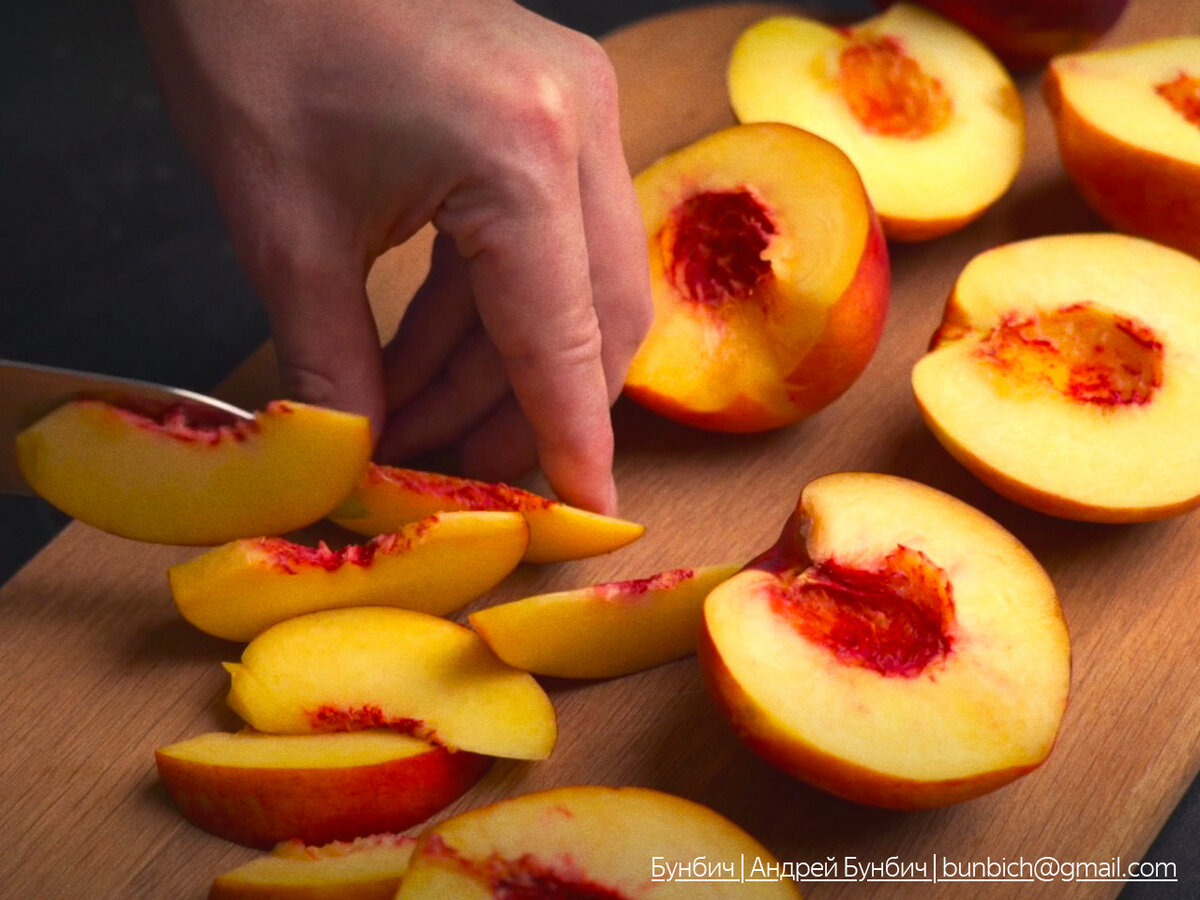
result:
[[[160,544],[311,524],[353,490],[370,456],[366,416],[290,401],[209,428],[79,400],[17,436],[18,464],[38,494],[88,524]]]

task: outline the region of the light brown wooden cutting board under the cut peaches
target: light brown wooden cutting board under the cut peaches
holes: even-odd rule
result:
[[[732,122],[724,66],[737,32],[778,7],[706,7],[607,38],[630,166]],[[1106,43],[1200,30],[1200,0],[1135,0]],[[757,437],[688,431],[628,404],[617,410],[624,514],[647,536],[606,558],[526,568],[484,602],[745,560],[767,546],[809,479],[840,469],[896,473],[995,516],[1048,568],[1074,640],[1070,707],[1044,767],[956,808],[901,815],[854,806],[745,751],[720,721],[695,660],[611,682],[548,685],[562,738],[545,763],[498,763],[454,809],[551,785],[640,784],[708,804],[781,859],[958,862],[1139,858],[1200,761],[1200,515],[1142,526],[1061,522],[1019,509],[967,475],[919,421],[908,371],[964,264],[996,244],[1094,230],[1066,181],[1036,78],[1021,83],[1028,156],[1002,203],[965,232],[894,247],[892,312],[858,384],[799,426]],[[382,330],[420,281],[430,235],[372,275]],[[224,394],[257,406],[275,392],[270,350]],[[1198,410],[1200,414],[1200,410]],[[1153,452],[1153,448],[1147,448]],[[536,481],[530,482],[538,487]],[[236,722],[220,661],[238,644],[175,613],[166,569],[194,550],[146,546],[72,524],[0,590],[0,744],[5,853],[0,894],[23,898],[199,898],[253,856],[185,822],[154,770],[154,748]],[[451,810],[452,811],[452,810]],[[640,852],[634,848],[630,852]],[[653,848],[646,848],[647,871]],[[1195,863],[1195,860],[1190,860]],[[1181,877],[1194,877],[1181,863]],[[984,886],[938,886],[938,895]],[[989,895],[1110,896],[1120,884],[992,884]],[[815,898],[925,895],[925,884],[824,883]]]

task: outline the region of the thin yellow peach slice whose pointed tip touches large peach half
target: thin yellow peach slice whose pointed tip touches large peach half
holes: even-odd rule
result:
[[[470,624],[510,666],[559,678],[614,678],[696,652],[708,592],[739,565],[539,594],[473,612]]]

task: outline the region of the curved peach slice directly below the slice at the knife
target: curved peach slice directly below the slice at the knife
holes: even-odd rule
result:
[[[283,619],[342,606],[444,616],[498,584],[528,540],[517,512],[443,512],[340,551],[282,538],[234,541],[167,575],[185,619],[248,641]]]

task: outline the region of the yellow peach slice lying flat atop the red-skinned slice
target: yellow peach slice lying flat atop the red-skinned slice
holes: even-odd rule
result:
[[[468,628],[410,610],[324,610],[272,625],[226,662],[251,727],[307,734],[389,727],[439,746],[544,760],[554,707]]]

